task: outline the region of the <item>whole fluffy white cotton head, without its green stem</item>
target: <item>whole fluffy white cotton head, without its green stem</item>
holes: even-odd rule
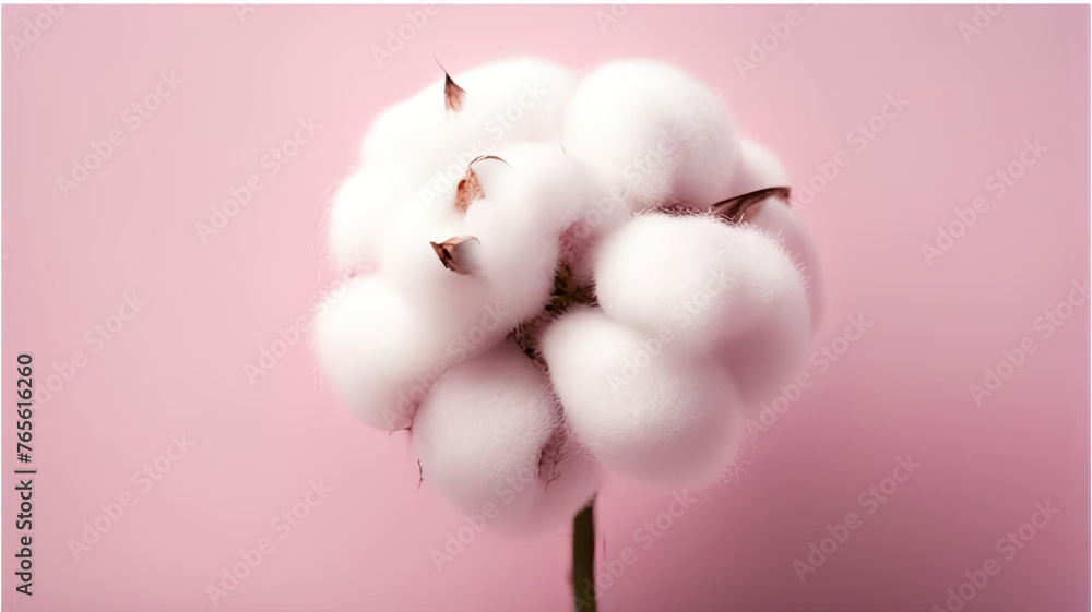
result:
[[[410,430],[426,489],[491,504],[505,529],[570,519],[602,467],[715,481],[741,407],[795,376],[818,312],[786,202],[737,224],[709,211],[788,185],[776,156],[660,62],[451,77],[375,120],[333,199],[330,256],[365,273],[316,321],[333,386],[365,423]]]

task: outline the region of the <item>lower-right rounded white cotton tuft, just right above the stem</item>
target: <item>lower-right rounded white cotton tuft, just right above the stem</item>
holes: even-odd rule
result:
[[[573,433],[607,468],[665,487],[714,481],[736,451],[738,399],[724,369],[594,309],[543,335]]]

